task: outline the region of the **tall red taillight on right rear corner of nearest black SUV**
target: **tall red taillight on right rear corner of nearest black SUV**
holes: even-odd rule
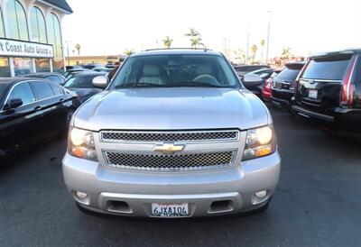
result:
[[[356,65],[356,56],[354,56],[351,59],[351,62],[348,65],[346,76],[342,81],[340,104],[343,106],[354,105],[355,84],[352,81],[352,75],[354,74],[354,70],[356,67],[355,65]]]

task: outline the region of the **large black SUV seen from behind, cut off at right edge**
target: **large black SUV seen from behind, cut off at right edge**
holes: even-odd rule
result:
[[[292,112],[336,131],[361,133],[361,49],[311,56],[296,79]]]

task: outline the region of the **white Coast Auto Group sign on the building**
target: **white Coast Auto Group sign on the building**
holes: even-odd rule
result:
[[[53,58],[52,45],[0,39],[0,56]]]

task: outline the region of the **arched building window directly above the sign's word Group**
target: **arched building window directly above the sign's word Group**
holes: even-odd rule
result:
[[[32,7],[31,27],[32,27],[32,41],[46,43],[46,29],[45,20],[42,12],[37,7]]]

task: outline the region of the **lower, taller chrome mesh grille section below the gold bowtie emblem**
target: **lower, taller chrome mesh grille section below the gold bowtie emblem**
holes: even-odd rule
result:
[[[176,154],[104,151],[106,165],[116,169],[182,171],[223,168],[233,164],[236,151],[197,151]]]

